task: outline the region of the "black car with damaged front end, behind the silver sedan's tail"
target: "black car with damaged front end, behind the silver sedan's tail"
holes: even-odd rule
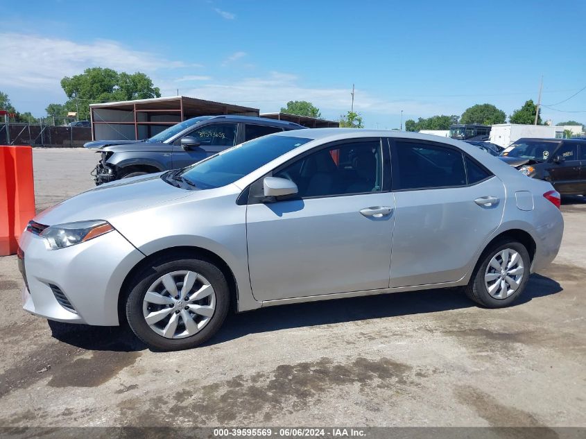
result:
[[[499,157],[564,195],[586,195],[586,140],[519,139]]]

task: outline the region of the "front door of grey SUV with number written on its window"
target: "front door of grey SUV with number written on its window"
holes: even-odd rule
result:
[[[226,148],[234,146],[238,123],[208,123],[189,132],[191,136],[199,141],[200,146],[192,147],[191,150],[184,150],[181,146],[181,139],[175,140],[173,144],[173,169],[184,168],[190,164],[200,162],[210,155],[219,153]]]

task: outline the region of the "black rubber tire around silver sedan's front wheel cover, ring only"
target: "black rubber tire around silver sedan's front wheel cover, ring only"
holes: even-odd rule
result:
[[[143,300],[150,285],[166,273],[191,270],[205,277],[216,295],[214,314],[199,332],[186,338],[166,338],[157,334],[146,322],[143,314]],[[191,259],[191,256],[162,257],[139,270],[129,282],[126,299],[126,318],[132,332],[141,341],[155,350],[175,351],[191,349],[214,336],[222,326],[230,309],[230,288],[222,271],[206,259]]]

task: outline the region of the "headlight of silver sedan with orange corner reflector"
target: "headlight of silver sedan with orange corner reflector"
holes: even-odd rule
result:
[[[79,221],[77,223],[57,224],[47,227],[40,233],[49,242],[53,250],[74,246],[75,244],[89,241],[107,232],[112,232],[114,227],[102,220]]]

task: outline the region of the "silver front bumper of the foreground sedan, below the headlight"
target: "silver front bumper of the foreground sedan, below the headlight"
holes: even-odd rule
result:
[[[119,325],[122,283],[144,258],[119,232],[59,250],[50,250],[41,236],[24,232],[20,247],[25,311],[60,322]]]

